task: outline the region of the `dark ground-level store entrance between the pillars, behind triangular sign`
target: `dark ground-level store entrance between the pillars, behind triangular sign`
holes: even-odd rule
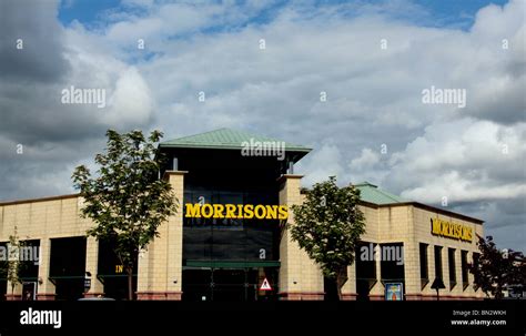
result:
[[[264,278],[272,291],[260,291]],[[183,269],[183,301],[254,302],[275,299],[277,268]]]

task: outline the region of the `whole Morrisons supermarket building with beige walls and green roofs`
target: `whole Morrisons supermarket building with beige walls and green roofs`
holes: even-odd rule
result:
[[[160,226],[160,237],[140,253],[134,275],[138,299],[332,297],[330,282],[284,228],[286,221],[294,224],[292,211],[286,221],[279,216],[283,206],[303,202],[302,176],[294,174],[294,164],[311,149],[277,142],[282,145],[266,152],[265,147],[244,151],[247,143],[276,142],[221,129],[160,144],[169,157],[162,179],[171,183],[181,206]],[[366,233],[348,267],[345,299],[385,299],[386,285],[393,283],[403,285],[404,299],[436,299],[435,279],[445,287],[441,299],[483,298],[467,271],[477,258],[476,235],[483,235],[483,221],[404,200],[371,183],[356,186]],[[186,212],[186,204],[220,210],[260,205],[277,208],[277,216],[198,216]],[[17,232],[39,252],[38,263],[26,265],[20,282],[11,284],[4,273],[0,276],[0,299],[20,299],[26,288],[32,288],[36,299],[125,297],[127,278],[111,242],[85,236],[93,223],[81,218],[81,207],[79,195],[0,203],[0,245],[7,246]],[[385,258],[385,251],[392,256],[402,252],[402,262]],[[384,257],[374,257],[378,255]],[[261,289],[263,283],[267,291]]]

